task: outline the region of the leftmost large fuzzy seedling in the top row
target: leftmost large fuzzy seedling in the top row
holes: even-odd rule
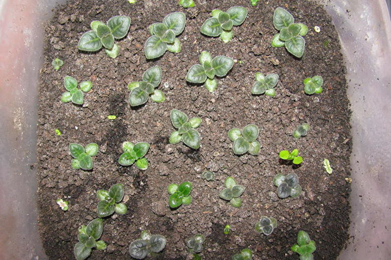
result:
[[[114,40],[122,39],[126,36],[130,27],[130,17],[114,16],[105,25],[101,21],[92,21],[91,30],[84,33],[79,40],[79,50],[86,52],[96,52],[105,48],[107,56],[117,58],[120,47]]]

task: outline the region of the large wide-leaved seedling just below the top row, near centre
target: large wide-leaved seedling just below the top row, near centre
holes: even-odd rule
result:
[[[203,51],[200,55],[200,63],[191,66],[186,74],[186,81],[190,83],[205,83],[209,92],[217,87],[214,76],[224,77],[234,66],[234,60],[226,56],[216,56],[212,59],[211,54]]]

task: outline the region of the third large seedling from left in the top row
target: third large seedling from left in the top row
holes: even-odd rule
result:
[[[233,26],[240,26],[247,17],[247,9],[241,6],[234,6],[223,12],[214,9],[211,18],[207,19],[201,27],[201,33],[211,37],[220,36],[220,39],[227,43],[234,35]]]

